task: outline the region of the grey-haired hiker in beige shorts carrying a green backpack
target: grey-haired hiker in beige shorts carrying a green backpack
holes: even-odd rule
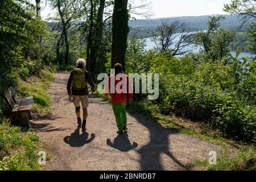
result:
[[[76,61],[77,67],[71,72],[67,84],[68,96],[73,97],[73,104],[76,107],[77,127],[82,127],[82,132],[86,130],[86,119],[88,117],[87,107],[89,106],[89,92],[87,83],[91,86],[92,93],[95,88],[92,76],[86,71],[85,65],[86,62],[84,59],[80,58]],[[82,105],[83,120],[81,120],[80,117],[80,102]]]

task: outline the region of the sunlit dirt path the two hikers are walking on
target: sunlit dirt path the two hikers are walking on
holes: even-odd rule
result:
[[[184,170],[184,164],[208,159],[218,146],[165,129],[128,114],[129,131],[116,134],[112,106],[89,96],[86,133],[77,129],[75,107],[67,96],[68,73],[58,72],[48,93],[52,113],[38,115],[32,127],[47,143],[48,170]]]

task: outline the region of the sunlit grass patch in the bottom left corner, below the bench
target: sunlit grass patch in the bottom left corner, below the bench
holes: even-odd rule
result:
[[[21,127],[10,126],[9,122],[1,120],[0,171],[40,170],[39,137],[32,131],[24,132]]]

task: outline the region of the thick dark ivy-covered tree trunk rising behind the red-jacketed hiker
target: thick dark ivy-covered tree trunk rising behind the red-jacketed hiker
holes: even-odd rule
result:
[[[123,71],[125,71],[125,53],[127,48],[127,35],[129,33],[128,26],[128,0],[115,0],[113,18],[112,18],[112,68],[116,63],[123,65]]]

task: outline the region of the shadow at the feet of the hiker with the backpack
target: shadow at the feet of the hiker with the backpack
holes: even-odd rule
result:
[[[89,134],[87,132],[83,132],[80,134],[80,129],[77,128],[70,136],[65,137],[63,140],[65,143],[69,144],[71,147],[82,147],[87,143],[92,142],[95,138],[95,134]]]

